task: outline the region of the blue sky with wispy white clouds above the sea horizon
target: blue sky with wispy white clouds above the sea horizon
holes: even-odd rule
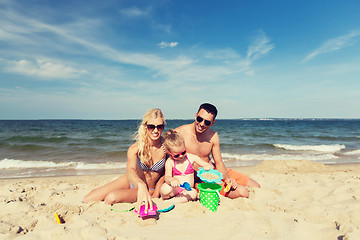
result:
[[[360,118],[360,1],[0,0],[0,119]]]

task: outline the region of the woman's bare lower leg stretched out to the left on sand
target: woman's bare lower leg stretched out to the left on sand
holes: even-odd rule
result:
[[[106,196],[116,190],[129,190],[129,180],[127,175],[124,174],[120,176],[118,179],[105,184],[104,186],[98,187],[91,192],[89,192],[85,197],[83,202],[89,203],[93,201],[104,201]]]

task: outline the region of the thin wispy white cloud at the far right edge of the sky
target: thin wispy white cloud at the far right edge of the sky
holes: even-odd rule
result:
[[[325,41],[318,49],[314,50],[312,53],[306,56],[303,62],[307,62],[318,55],[338,51],[344,47],[347,47],[358,41],[359,36],[360,31],[352,31],[344,36],[329,39]]]

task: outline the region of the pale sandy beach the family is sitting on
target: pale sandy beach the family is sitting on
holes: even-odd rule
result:
[[[237,170],[262,188],[248,199],[222,197],[216,212],[197,201],[146,220],[82,203],[116,175],[0,180],[0,239],[360,239],[359,164],[264,161]]]

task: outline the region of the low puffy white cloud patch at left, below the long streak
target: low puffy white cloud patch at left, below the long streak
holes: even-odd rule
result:
[[[86,73],[86,71],[83,70],[80,71],[69,66],[64,66],[62,64],[53,63],[43,59],[37,59],[36,61],[24,59],[11,61],[9,62],[7,70],[29,76],[61,79],[74,78]]]

